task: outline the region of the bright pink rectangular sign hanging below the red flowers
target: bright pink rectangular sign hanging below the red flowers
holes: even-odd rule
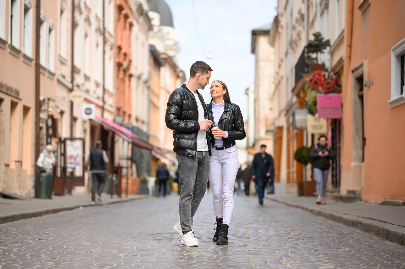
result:
[[[317,95],[318,118],[342,118],[342,99],[340,94]]]

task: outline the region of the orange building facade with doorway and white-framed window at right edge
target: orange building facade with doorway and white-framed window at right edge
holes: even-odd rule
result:
[[[347,0],[341,193],[405,200],[403,1]],[[384,17],[384,20],[381,18]],[[378,40],[384,40],[383,43]],[[364,44],[368,44],[365,46]]]

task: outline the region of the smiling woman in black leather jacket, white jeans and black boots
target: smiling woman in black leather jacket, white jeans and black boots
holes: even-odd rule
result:
[[[216,216],[213,242],[228,244],[228,228],[233,212],[233,188],[239,167],[235,140],[246,136],[241,109],[230,102],[225,83],[215,80],[210,88],[211,103],[207,104],[208,119],[215,124],[212,130],[212,157],[209,166],[209,182]],[[215,229],[214,225],[214,229]]]

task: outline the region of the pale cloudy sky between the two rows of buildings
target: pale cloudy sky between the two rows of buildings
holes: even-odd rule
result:
[[[245,90],[254,83],[254,55],[250,53],[252,29],[273,22],[277,0],[165,1],[171,8],[176,41],[180,45],[177,62],[186,79],[195,61],[205,61],[213,69],[210,84],[200,90],[206,103],[211,101],[211,82],[221,80],[228,87],[231,102],[241,107],[247,120]],[[207,58],[208,54],[212,55],[211,59]]]

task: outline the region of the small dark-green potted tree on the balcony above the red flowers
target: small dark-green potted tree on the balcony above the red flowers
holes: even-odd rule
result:
[[[325,65],[318,61],[318,53],[324,52],[327,47],[330,47],[330,40],[324,40],[320,32],[312,34],[313,40],[309,41],[306,48],[306,63],[311,68],[311,72],[325,70]]]

